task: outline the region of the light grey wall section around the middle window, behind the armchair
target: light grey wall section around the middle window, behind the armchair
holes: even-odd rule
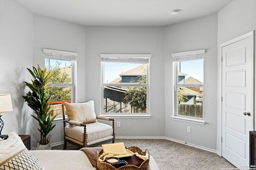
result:
[[[100,114],[100,54],[150,53],[150,119],[121,121],[116,136],[164,136],[163,27],[86,27],[86,101],[94,100]]]

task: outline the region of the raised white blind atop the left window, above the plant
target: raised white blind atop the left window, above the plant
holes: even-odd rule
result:
[[[60,51],[53,49],[43,49],[45,53],[46,59],[56,59],[56,60],[68,60],[68,61],[76,61],[76,57],[78,53],[70,52],[70,51]]]

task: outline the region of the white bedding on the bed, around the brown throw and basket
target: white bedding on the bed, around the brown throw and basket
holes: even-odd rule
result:
[[[30,150],[45,170],[96,170],[82,150]],[[159,170],[150,156],[149,170]]]

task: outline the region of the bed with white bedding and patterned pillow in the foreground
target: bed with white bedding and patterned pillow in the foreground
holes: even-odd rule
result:
[[[0,141],[0,170],[97,170],[84,150],[28,150],[15,132],[8,135]],[[159,170],[152,156],[148,170]]]

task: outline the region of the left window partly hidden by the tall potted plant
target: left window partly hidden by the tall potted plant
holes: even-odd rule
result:
[[[51,70],[50,86],[56,86],[52,98],[57,98],[52,105],[52,115],[62,116],[62,103],[75,102],[75,65],[77,53],[44,49],[45,67]]]

